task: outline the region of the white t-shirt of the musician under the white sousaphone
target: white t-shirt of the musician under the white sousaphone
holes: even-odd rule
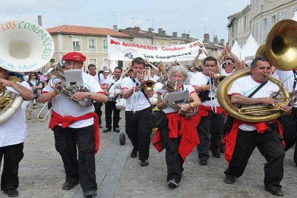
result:
[[[22,82],[22,86],[31,90],[27,82]],[[16,145],[28,140],[27,123],[21,106],[12,116],[0,125],[0,147]]]

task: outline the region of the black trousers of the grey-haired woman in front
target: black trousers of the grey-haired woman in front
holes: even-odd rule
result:
[[[184,171],[183,164],[184,160],[178,151],[178,146],[180,143],[179,138],[169,138],[168,120],[166,114],[161,112],[158,116],[158,128],[162,135],[162,144],[166,148],[166,165],[167,165],[167,182],[169,180],[175,179],[177,182],[181,181],[182,172]]]

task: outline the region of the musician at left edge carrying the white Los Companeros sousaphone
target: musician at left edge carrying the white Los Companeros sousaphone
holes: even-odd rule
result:
[[[16,77],[8,76],[8,71],[0,67],[0,85],[13,88],[24,100],[34,99],[33,92],[27,82],[17,84]],[[24,142],[28,140],[27,123],[22,108],[0,125],[0,164],[3,158],[1,175],[1,191],[9,197],[17,197],[19,186],[18,168],[24,153]],[[4,157],[3,157],[4,156]]]

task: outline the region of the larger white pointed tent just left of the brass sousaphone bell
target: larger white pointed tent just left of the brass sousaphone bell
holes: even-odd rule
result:
[[[256,42],[256,40],[250,34],[248,36],[246,44],[241,49],[241,56],[239,56],[240,59],[245,60],[246,63],[250,63],[252,61],[252,59],[254,58],[255,53],[258,48],[259,48],[259,44]]]

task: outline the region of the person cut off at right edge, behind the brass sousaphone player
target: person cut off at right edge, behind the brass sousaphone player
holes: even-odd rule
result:
[[[275,67],[272,66],[271,72],[274,76],[278,76],[279,80],[282,81],[288,92],[291,93],[296,91],[297,69],[282,71],[275,69]],[[290,115],[280,117],[279,121],[283,126],[283,136],[286,145],[285,150],[287,151],[295,144],[294,163],[297,165],[297,104],[293,103],[292,113]]]

